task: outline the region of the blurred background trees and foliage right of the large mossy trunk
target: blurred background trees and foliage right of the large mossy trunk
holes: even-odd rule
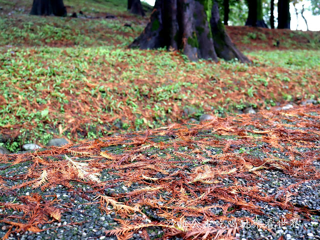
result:
[[[302,17],[306,11],[320,15],[319,0],[216,0],[224,25],[249,25],[269,28],[290,28],[290,19]],[[289,7],[291,6],[291,13]],[[292,11],[294,9],[294,13]],[[301,24],[301,18],[299,18]],[[319,19],[320,22],[320,19]]]

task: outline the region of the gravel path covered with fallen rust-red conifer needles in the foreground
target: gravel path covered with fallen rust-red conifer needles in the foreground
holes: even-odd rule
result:
[[[0,237],[317,239],[319,148],[308,106],[0,155]]]

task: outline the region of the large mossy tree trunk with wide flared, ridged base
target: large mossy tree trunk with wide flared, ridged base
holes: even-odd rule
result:
[[[181,49],[193,61],[198,58],[216,61],[218,56],[249,62],[225,32],[217,3],[211,11],[208,3],[208,0],[156,0],[145,29],[129,47]]]

